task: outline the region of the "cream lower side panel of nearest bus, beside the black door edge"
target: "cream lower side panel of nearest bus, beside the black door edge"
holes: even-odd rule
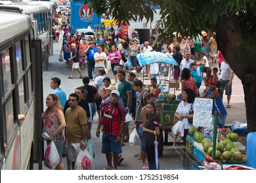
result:
[[[21,144],[21,168],[28,169],[30,163],[30,152],[34,136],[34,100],[26,114],[26,119],[20,122],[20,144]]]

